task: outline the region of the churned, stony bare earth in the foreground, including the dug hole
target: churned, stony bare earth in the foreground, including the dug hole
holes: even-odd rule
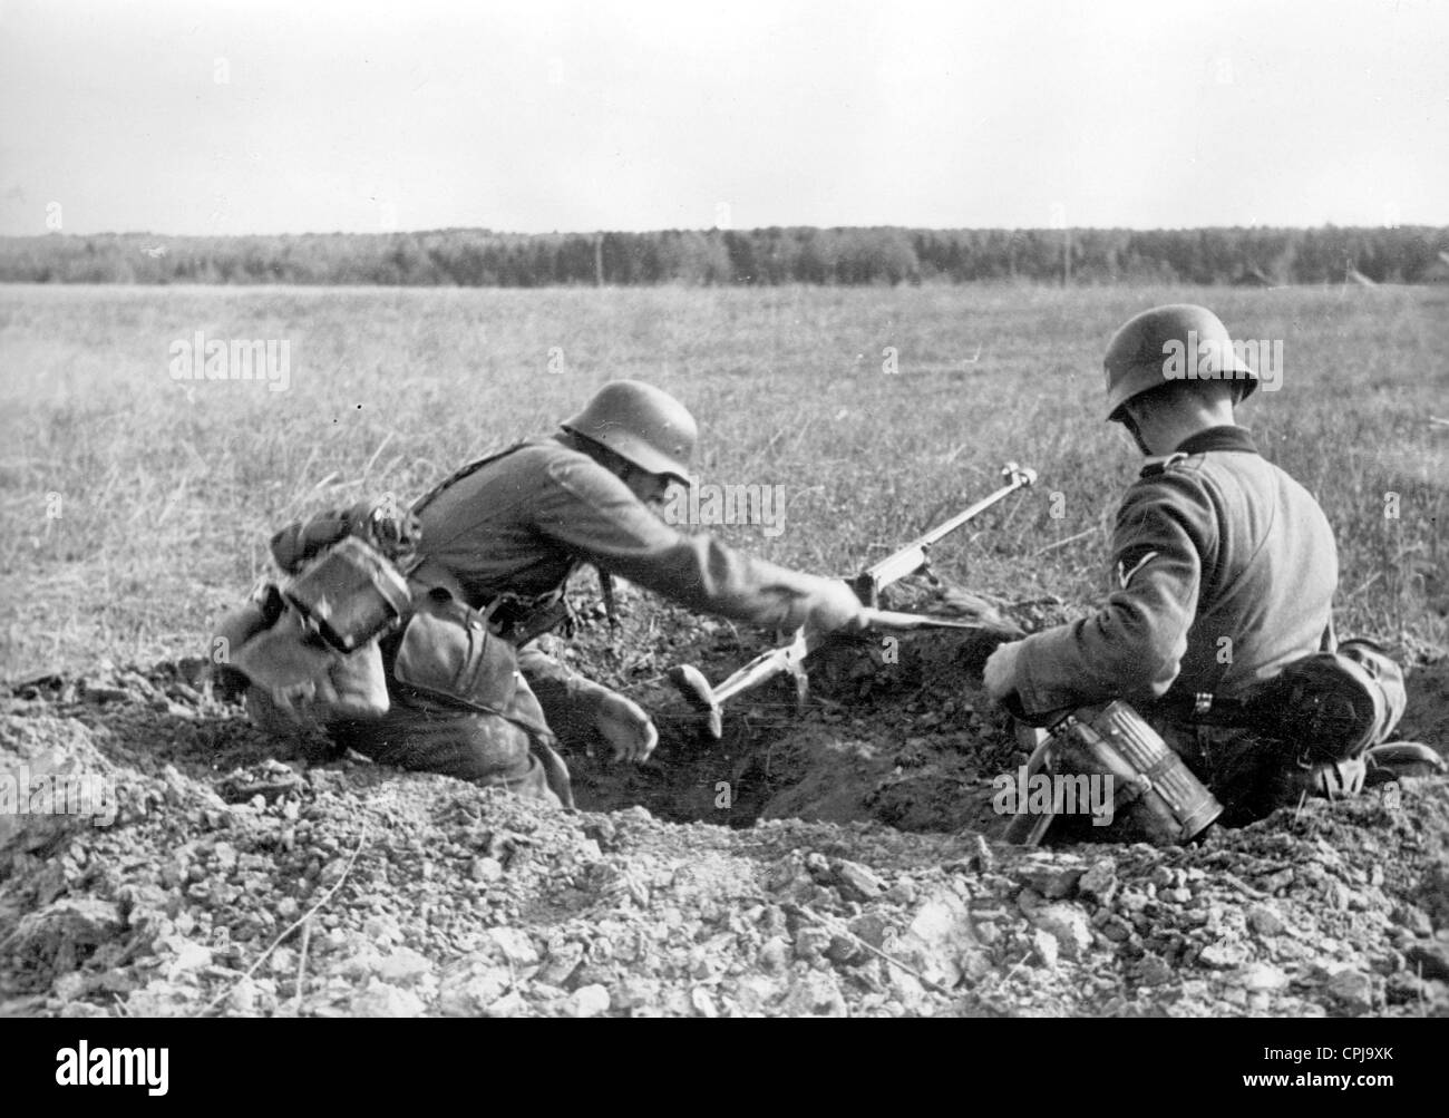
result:
[[[711,679],[738,666],[703,636]],[[1449,1014],[1445,781],[1190,849],[1001,846],[990,778],[1022,755],[971,686],[988,650],[842,652],[801,715],[761,692],[711,746],[617,660],[664,744],[572,756],[572,814],[278,747],[196,663],[32,681],[0,772],[97,773],[114,818],[0,831],[0,1012]]]

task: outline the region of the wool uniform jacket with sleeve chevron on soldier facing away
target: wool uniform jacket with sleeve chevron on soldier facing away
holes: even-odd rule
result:
[[[1117,511],[1113,589],[1093,617],[1027,637],[1029,714],[1120,697],[1236,697],[1332,642],[1333,531],[1242,427],[1200,432],[1142,471]]]

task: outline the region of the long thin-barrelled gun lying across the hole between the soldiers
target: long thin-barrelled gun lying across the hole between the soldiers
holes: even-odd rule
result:
[[[893,552],[881,562],[868,566],[855,578],[849,579],[851,588],[861,600],[868,629],[888,629],[895,631],[919,629],[966,629],[981,630],[982,626],[974,621],[959,621],[945,617],[924,617],[920,614],[894,613],[880,608],[881,591],[903,578],[927,571],[930,566],[930,547],[959,529],[962,524],[981,516],[991,505],[1006,500],[1017,489],[1023,489],[1036,482],[1036,471],[1007,462],[1001,468],[1001,475],[1007,484],[984,497],[969,508],[962,510],[951,520],[933,527],[923,536]],[[752,691],[777,675],[788,675],[796,685],[796,702],[803,704],[810,691],[810,676],[804,669],[804,659],[830,640],[829,636],[806,633],[797,630],[788,644],[771,649],[746,663],[719,686],[711,686],[698,668],[681,663],[669,669],[669,682],[697,711],[706,715],[709,736],[719,741],[724,736],[723,705],[736,695]]]

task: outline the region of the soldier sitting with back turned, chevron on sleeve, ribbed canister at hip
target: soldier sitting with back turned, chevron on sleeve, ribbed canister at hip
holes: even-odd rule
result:
[[[1182,352],[1194,378],[1181,377]],[[1077,739],[1072,756],[1094,772],[1137,752],[1119,775],[1155,766],[1126,791],[1156,779],[1174,801],[1158,804],[1164,817],[1181,817],[1175,840],[1219,812],[1242,824],[1303,795],[1352,795],[1365,760],[1378,775],[1406,757],[1436,766],[1423,747],[1381,744],[1404,708],[1403,676],[1365,642],[1336,647],[1333,531],[1236,426],[1258,374],[1217,316],[1145,311],[1113,337],[1106,369],[1107,419],[1148,458],[1117,510],[1113,592],[1093,617],[1000,646],[987,691],[1036,726],[1078,711],[1058,744]]]

